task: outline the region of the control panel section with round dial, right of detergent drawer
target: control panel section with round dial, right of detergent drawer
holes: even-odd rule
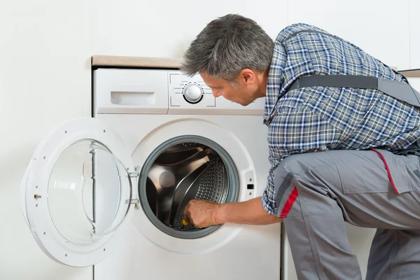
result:
[[[200,75],[189,77],[181,71],[168,71],[169,113],[240,113],[262,114],[264,99],[257,99],[248,106],[241,106],[223,97],[214,97],[211,88]]]

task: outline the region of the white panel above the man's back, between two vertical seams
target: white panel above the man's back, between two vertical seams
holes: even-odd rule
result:
[[[289,1],[288,15],[290,23],[316,25],[389,66],[409,68],[409,0]]]

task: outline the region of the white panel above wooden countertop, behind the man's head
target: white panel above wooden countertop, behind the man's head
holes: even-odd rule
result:
[[[227,13],[253,18],[272,37],[287,24],[286,0],[93,1],[93,50],[100,55],[182,57],[208,22]]]

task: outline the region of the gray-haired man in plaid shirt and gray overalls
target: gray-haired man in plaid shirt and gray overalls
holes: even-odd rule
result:
[[[317,27],[288,26],[273,42],[239,15],[210,22],[182,69],[215,97],[265,97],[272,163],[261,198],[193,200],[187,221],[283,221],[299,279],[361,279],[344,222],[377,228],[367,279],[420,278],[420,104],[405,77]]]

